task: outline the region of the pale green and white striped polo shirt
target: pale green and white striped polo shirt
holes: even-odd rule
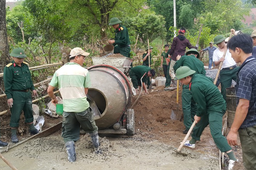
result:
[[[65,112],[79,113],[89,108],[85,88],[91,86],[87,69],[74,62],[67,63],[53,75],[50,85],[59,87]]]

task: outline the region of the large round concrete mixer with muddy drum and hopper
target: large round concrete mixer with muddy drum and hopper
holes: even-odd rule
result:
[[[91,88],[88,90],[87,99],[94,110],[98,132],[134,135],[134,110],[128,108],[132,91],[124,74],[128,71],[132,59],[126,57],[92,57],[92,59],[93,64],[96,65],[88,68]]]

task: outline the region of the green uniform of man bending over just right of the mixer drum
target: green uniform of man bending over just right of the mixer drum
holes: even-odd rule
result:
[[[148,77],[148,71],[150,71],[150,67],[148,66],[136,66],[130,69],[129,75],[132,79],[132,85],[135,89],[138,89],[138,86],[141,85],[141,77],[145,74],[145,76],[142,78],[142,82],[145,83],[147,77]]]

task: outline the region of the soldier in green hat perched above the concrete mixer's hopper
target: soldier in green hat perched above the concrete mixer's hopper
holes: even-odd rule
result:
[[[130,58],[130,39],[128,30],[125,26],[121,26],[122,21],[120,21],[117,17],[111,18],[109,25],[115,29],[115,40],[108,40],[109,44],[113,44],[115,46],[114,53],[120,53],[125,57]]]

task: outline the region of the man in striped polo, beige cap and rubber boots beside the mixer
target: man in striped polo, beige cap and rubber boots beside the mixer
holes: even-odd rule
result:
[[[76,47],[70,52],[70,62],[59,68],[53,75],[47,89],[52,103],[57,104],[53,90],[59,87],[63,98],[62,134],[66,149],[67,159],[76,161],[75,142],[80,138],[80,126],[89,132],[95,153],[99,153],[98,127],[95,125],[92,109],[87,101],[86,94],[91,86],[87,69],[82,67],[85,57],[90,53]]]

